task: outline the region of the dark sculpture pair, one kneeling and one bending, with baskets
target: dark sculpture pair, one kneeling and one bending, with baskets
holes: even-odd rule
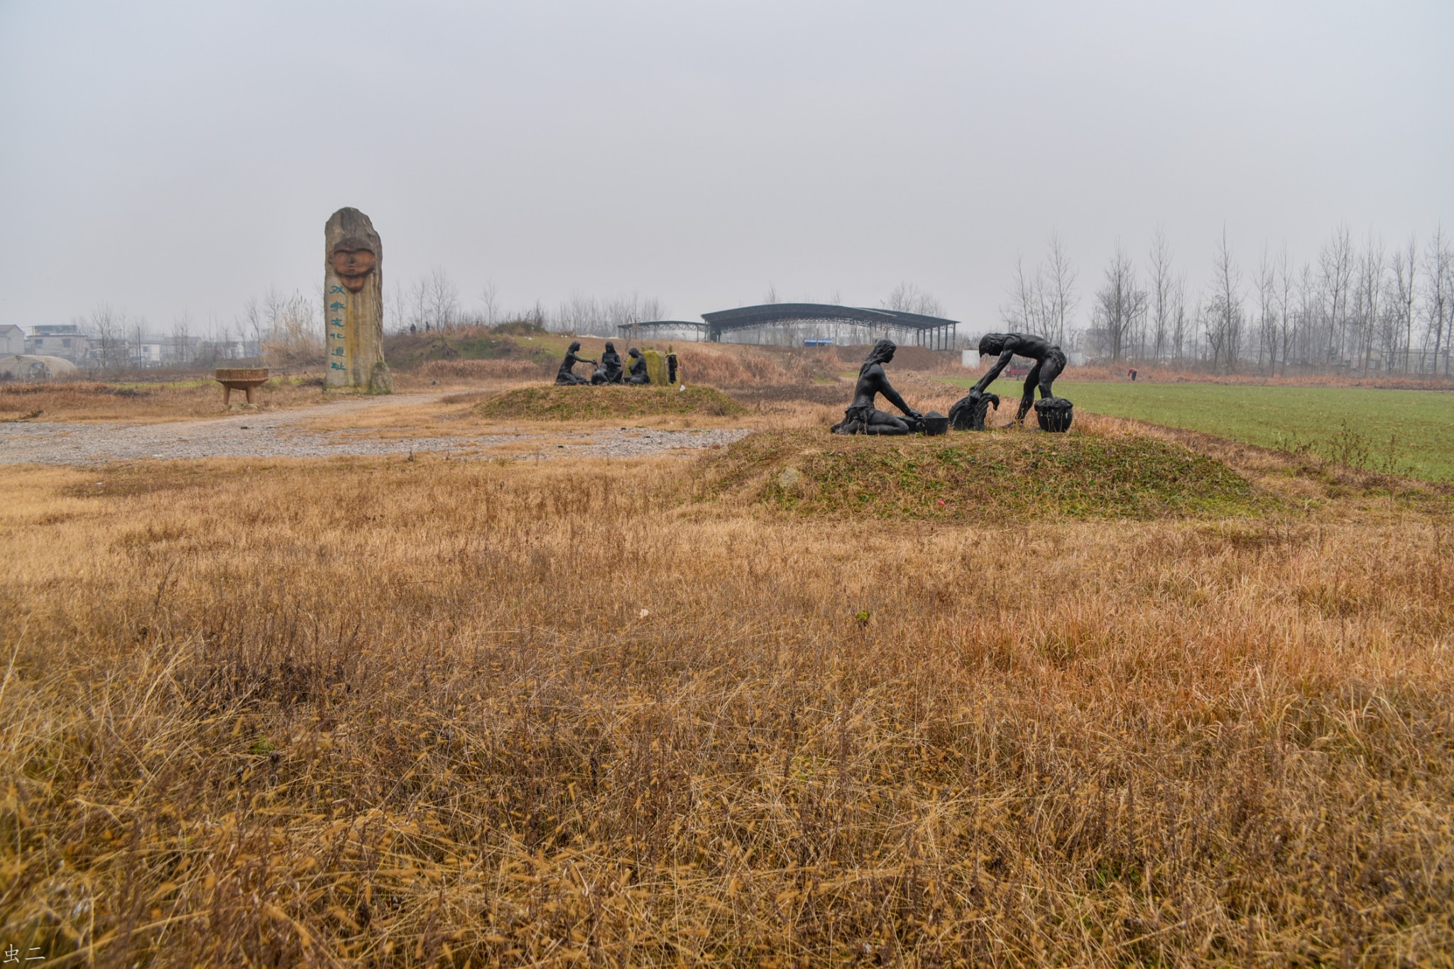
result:
[[[899,391],[888,382],[884,365],[894,359],[897,344],[893,340],[880,340],[869,350],[864,366],[858,369],[858,384],[853,386],[853,402],[843,411],[843,420],[833,426],[835,434],[942,434],[948,427],[955,430],[984,430],[984,418],[989,408],[999,410],[999,395],[990,394],[986,388],[1000,375],[1009,362],[1016,356],[1034,360],[1035,365],[1025,375],[1025,389],[1019,398],[1019,410],[1015,413],[1015,423],[1025,420],[1031,405],[1035,408],[1035,418],[1041,430],[1064,431],[1070,430],[1072,405],[1063,397],[1056,397],[1051,384],[1060,372],[1066,369],[1066,354],[1059,346],[1044,337],[1031,337],[1024,333],[989,333],[980,338],[980,356],[996,356],[995,366],[984,372],[970,392],[955,401],[949,408],[949,415],[929,413],[920,414],[904,402]],[[1035,400],[1035,389],[1040,389],[1040,400]],[[903,417],[896,417],[874,407],[875,398],[883,394],[890,404],[903,411]]]

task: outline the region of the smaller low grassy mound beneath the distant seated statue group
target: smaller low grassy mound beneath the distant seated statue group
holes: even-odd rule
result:
[[[711,386],[522,386],[484,400],[484,417],[507,420],[615,420],[628,417],[728,417],[746,408]]]

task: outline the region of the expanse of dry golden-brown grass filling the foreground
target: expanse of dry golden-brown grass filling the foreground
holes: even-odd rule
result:
[[[0,469],[0,940],[1448,960],[1447,516],[829,523],[695,477]]]

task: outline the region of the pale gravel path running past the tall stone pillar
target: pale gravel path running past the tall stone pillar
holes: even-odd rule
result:
[[[641,458],[688,453],[699,447],[727,445],[747,431],[726,430],[587,430],[542,434],[500,429],[493,434],[446,437],[378,437],[366,429],[337,421],[350,411],[362,413],[401,402],[432,404],[442,395],[361,398],[329,405],[326,414],[336,427],[314,424],[323,411],[316,407],[234,414],[215,420],[164,424],[80,424],[20,421],[0,424],[0,463],[92,465],[109,461],[179,461],[195,458],[336,458],[387,456],[411,452],[449,452],[458,458]]]

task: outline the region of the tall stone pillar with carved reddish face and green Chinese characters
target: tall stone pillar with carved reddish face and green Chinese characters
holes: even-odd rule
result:
[[[384,363],[384,250],[358,209],[339,209],[323,228],[324,389],[391,394]]]

